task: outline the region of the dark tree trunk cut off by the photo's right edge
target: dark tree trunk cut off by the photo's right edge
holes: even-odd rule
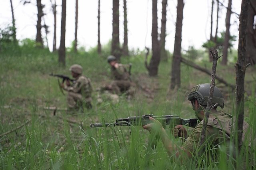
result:
[[[256,11],[256,1],[250,0],[248,7],[248,22],[247,22],[247,37],[246,37],[246,63],[256,64],[256,28],[255,28],[255,12]]]

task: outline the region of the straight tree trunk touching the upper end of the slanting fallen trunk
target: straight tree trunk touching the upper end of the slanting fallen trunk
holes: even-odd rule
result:
[[[181,60],[181,40],[182,40],[182,20],[183,20],[183,0],[178,0],[176,30],[174,40],[174,51],[172,57],[171,89],[180,88],[180,60]]]

